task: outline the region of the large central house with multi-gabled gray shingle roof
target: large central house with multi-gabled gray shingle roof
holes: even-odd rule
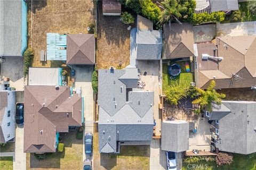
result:
[[[154,92],[138,89],[138,69],[99,70],[99,152],[120,145],[150,145]]]

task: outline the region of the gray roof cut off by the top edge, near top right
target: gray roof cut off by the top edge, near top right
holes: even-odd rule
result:
[[[211,0],[211,12],[238,10],[237,0]]]

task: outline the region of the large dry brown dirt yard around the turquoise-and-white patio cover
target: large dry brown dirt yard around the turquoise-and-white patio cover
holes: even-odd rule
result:
[[[92,1],[33,1],[31,28],[31,1],[28,2],[28,45],[35,51],[33,67],[59,67],[63,62],[39,60],[40,50],[46,51],[46,33],[88,33],[93,22]],[[32,31],[31,31],[32,30]]]

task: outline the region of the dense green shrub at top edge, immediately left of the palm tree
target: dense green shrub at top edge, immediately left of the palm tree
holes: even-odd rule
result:
[[[155,23],[158,22],[161,10],[156,4],[154,4],[151,0],[141,0],[140,6],[143,16]]]

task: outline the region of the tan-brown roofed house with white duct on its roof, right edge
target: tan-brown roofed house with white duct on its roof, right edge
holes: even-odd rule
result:
[[[209,57],[203,57],[207,55]],[[216,44],[195,45],[196,86],[246,88],[256,84],[256,36],[217,37]]]

